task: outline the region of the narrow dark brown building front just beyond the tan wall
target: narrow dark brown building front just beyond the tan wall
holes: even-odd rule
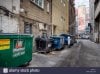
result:
[[[75,0],[69,0],[69,33],[75,35],[76,33],[76,13]]]

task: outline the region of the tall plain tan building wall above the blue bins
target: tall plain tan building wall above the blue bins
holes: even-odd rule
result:
[[[68,33],[68,0],[52,0],[52,34]]]

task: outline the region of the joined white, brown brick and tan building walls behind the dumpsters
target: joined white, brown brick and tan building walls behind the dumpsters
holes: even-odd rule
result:
[[[68,33],[69,21],[73,22],[71,17],[75,13],[73,8],[69,12],[69,3],[69,0],[0,0],[0,32],[35,37],[41,32]],[[4,11],[9,13],[5,16]]]

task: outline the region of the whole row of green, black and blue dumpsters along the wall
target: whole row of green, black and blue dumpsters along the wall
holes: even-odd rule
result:
[[[70,47],[75,42],[75,37],[68,34],[48,37],[43,33],[35,39],[30,34],[0,34],[0,67],[18,67],[29,63],[34,43],[37,52],[48,53],[64,49],[66,45]]]

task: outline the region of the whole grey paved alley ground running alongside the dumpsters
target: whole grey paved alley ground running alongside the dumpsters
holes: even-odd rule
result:
[[[49,54],[33,54],[28,67],[99,67],[100,46],[90,40],[80,39],[71,48]]]

